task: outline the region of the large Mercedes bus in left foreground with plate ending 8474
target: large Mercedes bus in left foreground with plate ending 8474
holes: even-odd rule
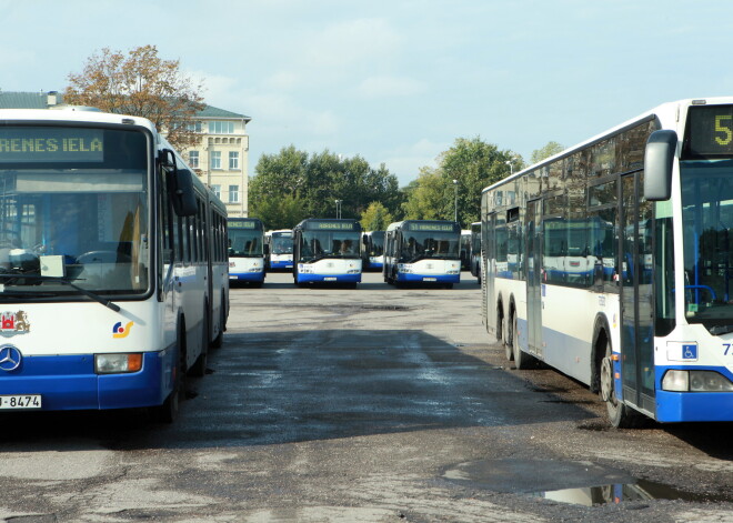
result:
[[[225,207],[152,123],[0,111],[0,412],[177,415],[228,315]]]

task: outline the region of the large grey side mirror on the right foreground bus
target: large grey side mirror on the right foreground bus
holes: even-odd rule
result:
[[[644,199],[666,201],[672,195],[672,165],[677,149],[677,133],[654,131],[644,153]]]

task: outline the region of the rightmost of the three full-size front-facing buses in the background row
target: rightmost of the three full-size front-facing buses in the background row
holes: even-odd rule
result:
[[[461,281],[461,227],[444,220],[405,220],[386,228],[384,281],[435,283],[448,289]]]

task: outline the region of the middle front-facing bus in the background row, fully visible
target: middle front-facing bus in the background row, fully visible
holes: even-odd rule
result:
[[[361,225],[357,220],[303,220],[293,229],[293,280],[307,283],[361,282]]]

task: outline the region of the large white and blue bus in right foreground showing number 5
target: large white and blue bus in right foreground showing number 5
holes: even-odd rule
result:
[[[483,190],[483,318],[614,426],[733,421],[733,98],[660,105]]]

